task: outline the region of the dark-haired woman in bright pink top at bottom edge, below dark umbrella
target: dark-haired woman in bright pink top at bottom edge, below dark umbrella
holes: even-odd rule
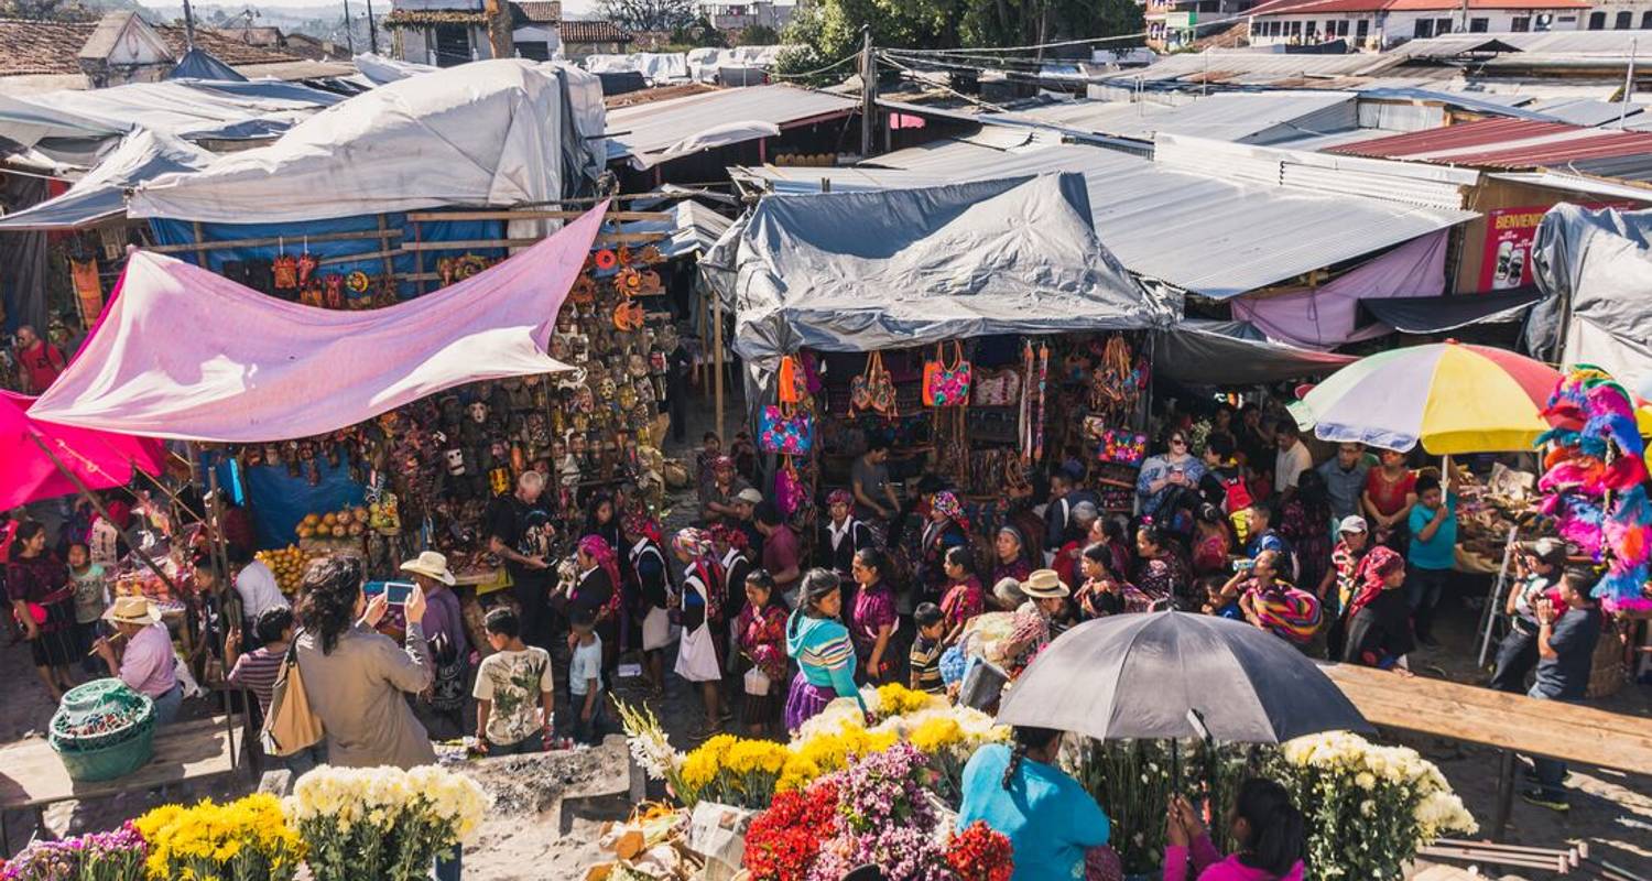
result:
[[[1227,831],[1239,850],[1222,860],[1199,812],[1180,795],[1171,798],[1165,818],[1165,881],[1302,881],[1307,823],[1285,787],[1257,777],[1241,783]]]

